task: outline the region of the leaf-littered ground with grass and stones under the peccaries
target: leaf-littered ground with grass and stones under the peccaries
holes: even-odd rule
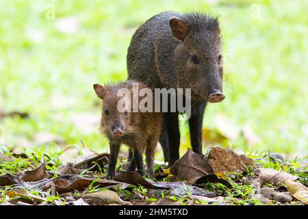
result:
[[[308,159],[276,153],[239,155],[190,149],[175,164],[155,161],[155,175],[127,172],[119,156],[106,179],[109,154],[84,145],[44,154],[0,151],[0,205],[305,205]]]

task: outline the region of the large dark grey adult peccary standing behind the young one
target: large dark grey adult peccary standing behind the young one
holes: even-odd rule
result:
[[[129,79],[152,88],[191,88],[189,118],[192,149],[202,154],[202,123],[207,102],[224,99],[217,18],[200,12],[162,12],[141,25],[127,53]],[[160,143],[165,161],[179,159],[179,118],[165,112]]]

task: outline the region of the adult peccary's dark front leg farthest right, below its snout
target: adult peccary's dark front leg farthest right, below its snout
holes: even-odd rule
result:
[[[196,103],[192,106],[192,114],[189,118],[190,143],[192,151],[202,155],[202,123],[206,103]]]

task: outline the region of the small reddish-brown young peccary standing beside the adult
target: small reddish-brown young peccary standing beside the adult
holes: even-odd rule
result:
[[[132,92],[133,84],[136,85],[137,82],[126,81],[110,86],[94,84],[97,96],[103,100],[101,131],[110,140],[108,178],[114,178],[121,143],[126,144],[130,151],[133,151],[128,170],[135,171],[137,166],[138,172],[144,175],[142,154],[145,150],[147,173],[153,175],[155,146],[161,133],[162,114],[140,112],[139,109],[136,112],[133,111],[133,98],[137,98],[140,102],[139,91],[146,88],[144,84],[138,83],[136,97],[136,94]],[[129,95],[119,94],[119,91],[123,91],[123,88],[129,91]],[[125,103],[127,104],[125,105]]]

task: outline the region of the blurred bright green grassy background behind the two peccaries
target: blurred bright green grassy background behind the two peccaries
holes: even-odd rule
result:
[[[307,8],[300,0],[0,1],[0,111],[29,113],[0,118],[0,145],[21,151],[83,140],[109,151],[92,84],[126,79],[127,47],[148,18],[198,10],[219,16],[225,73],[226,99],[205,112],[205,145],[305,157]]]

